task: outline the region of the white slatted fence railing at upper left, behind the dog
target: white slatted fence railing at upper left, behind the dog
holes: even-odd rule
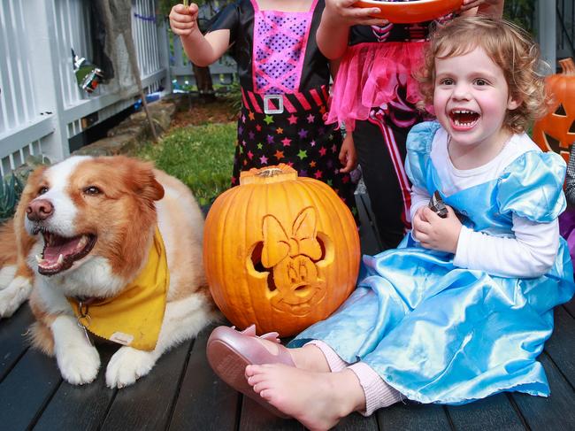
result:
[[[132,0],[132,25],[142,83],[169,89],[165,23],[156,0]],[[65,158],[68,140],[134,104],[135,95],[101,85],[88,95],[73,73],[72,53],[92,57],[89,0],[0,0],[0,174],[28,155]]]

